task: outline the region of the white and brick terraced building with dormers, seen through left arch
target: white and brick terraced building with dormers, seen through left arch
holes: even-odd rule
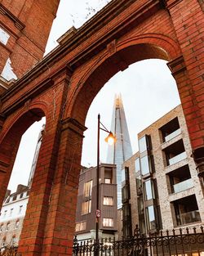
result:
[[[15,193],[7,191],[0,216],[0,250],[18,245],[29,201],[29,186],[19,185]]]

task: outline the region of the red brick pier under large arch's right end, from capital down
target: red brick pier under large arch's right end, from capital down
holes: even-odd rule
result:
[[[203,115],[199,108],[199,102],[196,99],[196,93],[193,91],[192,83],[188,77],[188,70],[186,69],[183,56],[169,62],[168,66],[176,80],[180,93],[180,101],[184,110],[189,137],[194,146],[193,159],[197,164],[197,173],[204,192]]]

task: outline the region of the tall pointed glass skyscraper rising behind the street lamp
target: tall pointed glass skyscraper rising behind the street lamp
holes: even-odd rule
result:
[[[126,124],[126,115],[122,104],[122,96],[115,96],[113,105],[113,115],[111,132],[117,141],[114,146],[109,146],[107,163],[117,164],[117,184],[118,184],[118,209],[122,207],[122,164],[132,155],[131,140]]]

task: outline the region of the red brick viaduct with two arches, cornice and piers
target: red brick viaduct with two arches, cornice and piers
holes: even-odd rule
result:
[[[22,134],[47,119],[20,239],[23,256],[71,254],[86,113],[104,83],[135,61],[168,61],[203,172],[203,27],[201,0],[113,0],[2,93],[1,203]]]

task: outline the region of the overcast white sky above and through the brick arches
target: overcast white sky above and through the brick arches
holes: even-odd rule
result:
[[[51,29],[47,44],[50,52],[56,45],[56,39],[73,25],[78,28],[96,11],[110,2],[108,0],[61,0],[59,11]],[[96,165],[97,115],[101,122],[110,128],[115,93],[121,92],[126,113],[126,121],[131,137],[133,152],[138,150],[137,133],[180,104],[178,90],[166,61],[147,60],[136,62],[123,72],[114,75],[100,90],[91,104],[86,117],[86,132],[83,142],[82,165]],[[105,104],[104,104],[105,99]],[[33,124],[24,133],[20,150],[16,157],[9,188],[16,189],[18,183],[27,184],[33,153],[38,140],[42,122]],[[101,131],[100,161],[105,162],[107,146],[106,134]]]

